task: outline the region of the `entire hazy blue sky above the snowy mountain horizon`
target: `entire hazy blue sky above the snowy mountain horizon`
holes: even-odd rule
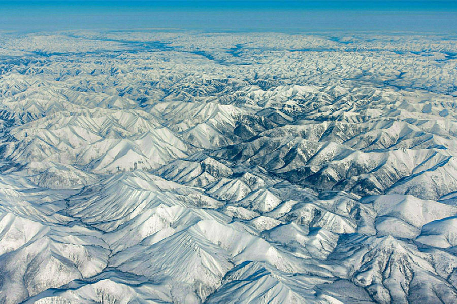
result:
[[[457,1],[0,1],[0,30],[457,32]]]

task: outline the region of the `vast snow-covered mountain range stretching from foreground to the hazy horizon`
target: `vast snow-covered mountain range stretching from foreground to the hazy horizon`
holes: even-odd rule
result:
[[[0,303],[457,302],[457,37],[0,41]]]

